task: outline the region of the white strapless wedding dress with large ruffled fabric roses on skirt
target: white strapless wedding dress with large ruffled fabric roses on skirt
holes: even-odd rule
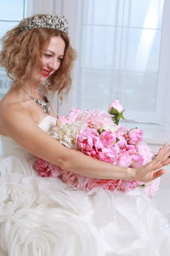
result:
[[[49,131],[55,121],[38,126]],[[35,157],[1,138],[0,256],[170,255],[167,220],[141,189],[77,191],[38,177]]]

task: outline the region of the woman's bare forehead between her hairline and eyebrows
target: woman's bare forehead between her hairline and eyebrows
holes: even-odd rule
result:
[[[50,38],[49,43],[46,45],[45,49],[53,51],[54,54],[63,55],[65,51],[65,41],[63,38],[54,36]]]

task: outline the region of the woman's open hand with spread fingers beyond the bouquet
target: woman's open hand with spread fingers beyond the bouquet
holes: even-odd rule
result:
[[[156,177],[160,177],[165,172],[161,167],[168,164],[170,164],[170,148],[166,143],[159,149],[153,160],[135,169],[134,179],[141,182],[150,182]]]

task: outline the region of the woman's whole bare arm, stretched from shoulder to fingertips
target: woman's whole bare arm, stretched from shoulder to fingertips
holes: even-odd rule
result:
[[[149,166],[145,165],[139,169],[114,166],[110,163],[94,160],[88,155],[74,149],[65,148],[65,146],[58,143],[53,137],[42,131],[34,123],[30,114],[23,109],[20,111],[10,108],[5,111],[0,125],[2,131],[8,137],[12,137],[15,142],[26,148],[31,154],[48,160],[62,169],[88,177],[148,181],[161,176],[163,171],[154,171],[170,163],[170,160],[167,160],[170,155],[168,145],[161,149],[161,153],[157,154],[156,159],[151,161]]]

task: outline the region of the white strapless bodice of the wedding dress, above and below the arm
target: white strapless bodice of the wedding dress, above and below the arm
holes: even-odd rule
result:
[[[56,124],[56,118],[54,116],[47,115],[39,123],[38,127],[43,131],[50,131]],[[24,156],[26,159],[30,159],[33,155],[27,152],[24,148],[20,147],[18,143],[15,143],[11,137],[1,136],[3,157],[10,155]]]

